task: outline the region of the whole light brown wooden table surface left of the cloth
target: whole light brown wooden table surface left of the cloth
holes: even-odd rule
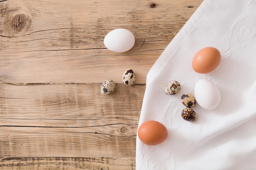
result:
[[[135,170],[146,75],[202,1],[0,0],[0,169]],[[130,51],[104,46],[117,28]]]

